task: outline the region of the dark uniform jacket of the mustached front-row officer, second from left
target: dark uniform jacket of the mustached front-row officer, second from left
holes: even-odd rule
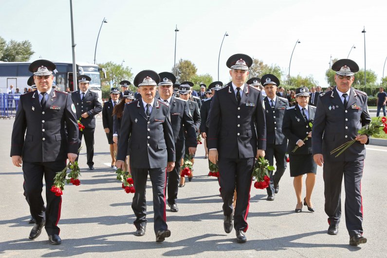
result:
[[[129,147],[130,166],[133,168],[166,167],[167,162],[175,161],[175,144],[166,103],[155,99],[148,119],[142,99],[132,101],[125,105],[121,123],[117,160],[125,160]]]

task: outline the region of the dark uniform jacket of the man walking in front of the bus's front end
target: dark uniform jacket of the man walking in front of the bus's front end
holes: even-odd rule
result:
[[[89,117],[82,118],[81,123],[86,128],[95,128],[94,116],[102,111],[102,105],[98,101],[98,94],[89,89],[83,100],[81,100],[80,94],[80,90],[71,93],[71,98],[76,109],[76,117],[79,119],[84,112],[87,112]]]

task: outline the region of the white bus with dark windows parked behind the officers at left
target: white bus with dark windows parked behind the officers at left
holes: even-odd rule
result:
[[[74,91],[73,85],[73,63],[71,62],[54,62],[56,69],[53,73],[53,86],[59,91],[65,91],[67,87]],[[0,92],[7,93],[10,85],[14,90],[19,89],[23,93],[27,85],[28,78],[32,75],[28,71],[30,62],[0,62]],[[76,63],[76,75],[88,75],[92,78],[89,89],[98,94],[98,100],[102,103],[101,91],[101,74],[106,78],[106,71],[98,65],[90,63]]]

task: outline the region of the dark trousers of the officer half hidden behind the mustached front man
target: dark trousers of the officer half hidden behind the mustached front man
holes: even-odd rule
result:
[[[179,178],[180,178],[180,160],[184,157],[184,141],[178,140],[175,143],[176,149],[176,162],[175,167],[172,171],[167,173],[168,177],[168,186],[166,187],[166,191],[168,192],[168,204],[176,204],[177,201],[177,193],[179,190]]]

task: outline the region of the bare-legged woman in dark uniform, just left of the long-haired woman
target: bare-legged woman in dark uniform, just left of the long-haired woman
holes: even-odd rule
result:
[[[114,106],[119,103],[120,92],[117,88],[111,88],[110,99],[104,103],[102,108],[102,125],[104,127],[106,137],[108,138],[110,156],[111,156],[111,167],[115,166],[114,152],[117,153],[117,144],[113,142],[113,109]]]

